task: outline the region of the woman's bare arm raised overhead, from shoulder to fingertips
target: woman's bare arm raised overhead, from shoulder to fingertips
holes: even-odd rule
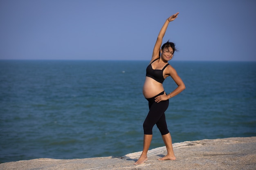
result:
[[[162,26],[162,29],[160,30],[158,36],[157,36],[157,42],[155,43],[154,49],[153,49],[153,54],[151,58],[151,62],[157,58],[159,58],[159,51],[163,42],[164,34],[166,32],[166,29],[168,27],[168,24],[175,20],[178,16],[178,12],[175,13],[174,15],[171,15],[167,20],[164,22],[164,25]]]

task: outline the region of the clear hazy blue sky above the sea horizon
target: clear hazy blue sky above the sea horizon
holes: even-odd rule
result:
[[[1,0],[0,59],[256,61],[255,0]]]

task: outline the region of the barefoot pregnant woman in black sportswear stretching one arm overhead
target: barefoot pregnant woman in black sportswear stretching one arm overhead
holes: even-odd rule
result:
[[[185,89],[185,85],[175,69],[168,64],[168,61],[173,58],[174,52],[177,51],[175,49],[175,44],[173,42],[166,42],[162,45],[162,40],[168,24],[175,20],[178,14],[179,13],[176,13],[169,17],[162,26],[153,49],[150,64],[146,68],[146,80],[143,86],[143,95],[148,100],[149,112],[143,124],[143,151],[139,159],[134,163],[135,165],[144,163],[148,160],[147,152],[152,140],[152,129],[155,124],[162,134],[162,138],[167,149],[167,155],[158,160],[176,159],[164,112],[168,108],[169,99],[182,92]],[[175,81],[177,88],[173,92],[166,94],[162,83],[168,76]]]

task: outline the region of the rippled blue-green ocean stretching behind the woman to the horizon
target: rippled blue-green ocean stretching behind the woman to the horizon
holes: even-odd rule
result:
[[[173,143],[256,136],[256,62],[170,61]],[[0,60],[0,163],[121,157],[143,148],[149,61]],[[176,88],[171,77],[166,93]],[[164,146],[157,127],[150,149]]]

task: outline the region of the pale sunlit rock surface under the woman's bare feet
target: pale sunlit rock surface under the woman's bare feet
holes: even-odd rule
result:
[[[141,152],[124,157],[33,159],[0,164],[0,170],[255,170],[256,137],[204,139],[173,144],[175,161],[158,161],[166,148],[149,150],[148,161],[133,165]]]

